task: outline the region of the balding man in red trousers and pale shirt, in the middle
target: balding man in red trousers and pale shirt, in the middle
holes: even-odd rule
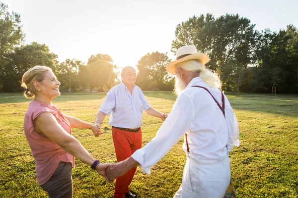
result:
[[[162,120],[165,120],[167,116],[167,114],[150,107],[142,90],[135,85],[137,71],[134,67],[124,67],[121,71],[121,77],[122,82],[107,93],[107,97],[95,118],[95,124],[101,125],[105,116],[112,112],[109,124],[112,125],[113,142],[118,162],[127,159],[142,147],[143,111]],[[136,197],[129,192],[128,188],[136,170],[136,167],[132,168],[117,178],[114,198]]]

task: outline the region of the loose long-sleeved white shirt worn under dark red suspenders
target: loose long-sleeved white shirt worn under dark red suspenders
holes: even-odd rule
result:
[[[234,146],[239,146],[239,129],[236,116],[224,96],[225,117],[210,94],[194,85],[206,87],[222,105],[219,89],[212,89],[200,77],[192,79],[176,99],[172,111],[144,148],[132,157],[141,164],[143,172],[150,174],[156,164],[181,137],[187,133],[189,157],[197,163],[222,161]],[[227,146],[227,147],[226,147]],[[184,137],[183,150],[187,153]]]

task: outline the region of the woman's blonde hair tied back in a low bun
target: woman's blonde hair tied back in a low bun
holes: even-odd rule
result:
[[[26,89],[24,96],[27,99],[32,99],[35,97],[36,89],[33,86],[33,82],[43,81],[44,74],[47,71],[52,71],[52,69],[50,67],[36,65],[24,73],[21,86]]]

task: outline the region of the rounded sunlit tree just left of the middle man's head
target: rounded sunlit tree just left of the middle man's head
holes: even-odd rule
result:
[[[117,65],[108,54],[91,55],[87,68],[90,74],[90,87],[98,92],[108,91],[115,84]]]

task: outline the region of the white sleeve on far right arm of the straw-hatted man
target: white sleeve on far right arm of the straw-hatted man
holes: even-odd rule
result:
[[[224,96],[226,102],[224,111],[225,111],[225,122],[228,130],[228,139],[227,139],[227,151],[231,151],[233,146],[239,147],[240,137],[239,137],[239,126],[236,115],[228,101]]]

